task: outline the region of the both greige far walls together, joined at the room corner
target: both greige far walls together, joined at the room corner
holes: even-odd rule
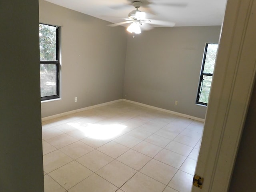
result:
[[[202,56],[220,26],[155,28],[132,38],[43,0],[39,18],[62,26],[61,100],[43,102],[42,117],[125,98],[204,118],[206,107],[195,104]]]

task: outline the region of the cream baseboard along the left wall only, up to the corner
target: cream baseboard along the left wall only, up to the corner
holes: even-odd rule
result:
[[[109,105],[109,104],[112,104],[112,103],[120,102],[122,100],[123,99],[118,99],[118,100],[114,100],[114,101],[110,101],[110,102],[106,102],[106,103],[101,103],[101,104],[97,104],[97,105],[93,105],[93,106],[84,107],[84,108],[81,108],[81,109],[76,109],[76,110],[72,110],[72,111],[68,111],[68,112],[64,112],[64,113],[44,117],[44,118],[42,118],[42,122],[47,121],[47,120],[51,120],[51,119],[55,119],[55,118],[58,118],[58,117],[63,117],[63,116],[66,116],[66,115],[70,115],[70,114],[73,114],[73,113],[78,113],[78,112],[86,111],[86,110],[89,110],[89,109]]]

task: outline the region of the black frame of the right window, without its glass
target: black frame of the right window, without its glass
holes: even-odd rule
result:
[[[204,80],[203,78],[204,78],[204,76],[213,76],[213,73],[204,73],[204,64],[205,64],[205,60],[206,60],[208,44],[217,44],[218,45],[218,43],[206,43],[205,48],[204,48],[204,57],[203,57],[202,67],[201,67],[201,72],[200,72],[200,79],[199,79],[199,85],[198,85],[197,96],[196,96],[196,104],[201,104],[201,105],[205,105],[205,106],[207,106],[208,103],[199,101],[201,91],[202,91],[202,86],[203,86],[203,80]]]

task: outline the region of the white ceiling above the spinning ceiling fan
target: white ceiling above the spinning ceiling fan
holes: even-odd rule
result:
[[[112,23],[125,21],[137,0],[47,0]],[[148,19],[175,22],[175,26],[221,25],[226,0],[140,0],[139,10],[151,12]],[[171,6],[167,4],[172,4]],[[146,6],[146,7],[145,7]]]

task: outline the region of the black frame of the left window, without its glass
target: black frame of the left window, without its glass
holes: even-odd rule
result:
[[[51,96],[41,97],[41,101],[60,98],[60,26],[44,24],[43,25],[56,27],[56,60],[40,60],[40,64],[55,64],[56,66],[56,94]]]

